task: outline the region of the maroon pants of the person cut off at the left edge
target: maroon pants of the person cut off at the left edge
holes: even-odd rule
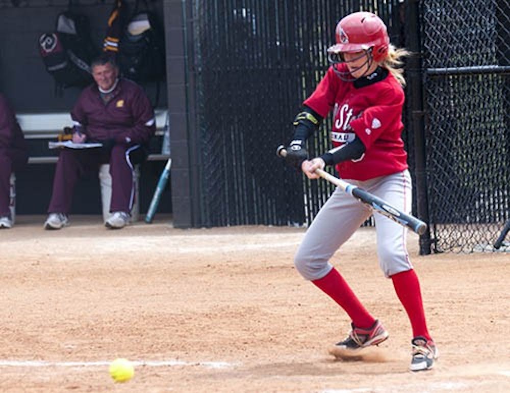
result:
[[[27,160],[28,155],[24,150],[0,147],[0,217],[10,215],[11,173],[21,171]]]

